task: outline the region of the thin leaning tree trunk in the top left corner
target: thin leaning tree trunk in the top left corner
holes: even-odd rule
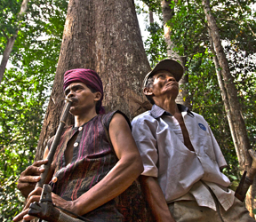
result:
[[[2,61],[1,61],[1,65],[0,65],[0,83],[2,82],[2,79],[4,77],[5,67],[7,65],[8,59],[9,59],[10,54],[12,52],[12,48],[13,48],[13,45],[15,43],[16,37],[18,36],[18,31],[20,29],[20,21],[22,20],[23,15],[27,10],[27,6],[28,6],[28,0],[23,0],[22,4],[20,6],[20,12],[18,14],[18,20],[17,20],[18,25],[17,25],[17,30],[16,30],[15,34],[10,38],[8,38],[8,36],[5,35],[5,37],[7,39],[7,44],[6,44],[6,47],[4,49],[4,54],[3,54],[3,58],[2,58]]]

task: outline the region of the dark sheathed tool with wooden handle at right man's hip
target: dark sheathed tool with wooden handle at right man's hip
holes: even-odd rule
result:
[[[239,183],[239,186],[236,188],[235,196],[241,202],[244,202],[245,195],[252,185],[253,178],[256,175],[256,152],[253,149],[248,150],[249,154],[252,157],[252,166],[248,172],[244,171],[244,175]]]

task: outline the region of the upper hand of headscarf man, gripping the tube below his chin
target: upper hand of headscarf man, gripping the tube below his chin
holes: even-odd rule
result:
[[[35,188],[36,183],[41,179],[40,174],[44,172],[44,168],[41,166],[47,162],[48,160],[36,161],[31,166],[28,166],[26,170],[21,172],[17,187],[20,190],[20,193],[26,198]]]

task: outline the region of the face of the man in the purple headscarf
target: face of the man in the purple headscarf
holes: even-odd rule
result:
[[[72,100],[69,112],[72,115],[84,115],[95,109],[96,102],[100,100],[100,91],[92,92],[84,83],[71,83],[64,91],[65,97]]]

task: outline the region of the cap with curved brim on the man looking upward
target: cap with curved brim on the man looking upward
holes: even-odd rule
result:
[[[172,75],[174,75],[175,79],[177,82],[180,81],[183,73],[184,73],[184,69],[183,67],[180,65],[180,63],[178,61],[175,61],[173,59],[163,59],[161,61],[159,61],[156,64],[156,67],[154,67],[144,78],[143,81],[143,87],[146,86],[147,82],[148,82],[148,78],[155,75],[157,71],[159,70],[166,70],[169,71]]]

